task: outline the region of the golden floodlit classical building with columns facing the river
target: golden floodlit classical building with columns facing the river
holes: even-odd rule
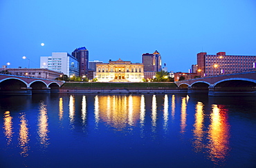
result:
[[[131,63],[121,59],[96,65],[98,82],[143,82],[143,72],[143,63]]]

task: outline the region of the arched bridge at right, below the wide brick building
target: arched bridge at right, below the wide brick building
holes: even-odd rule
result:
[[[208,92],[209,96],[256,96],[256,71],[194,78],[175,83],[178,87],[188,87],[188,94]]]

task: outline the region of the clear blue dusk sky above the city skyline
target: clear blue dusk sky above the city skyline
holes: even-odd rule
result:
[[[168,71],[188,72],[202,51],[256,55],[256,1],[1,0],[0,30],[0,63],[12,68],[85,46],[105,63],[158,50]]]

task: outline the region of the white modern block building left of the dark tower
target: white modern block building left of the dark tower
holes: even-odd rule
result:
[[[68,76],[78,76],[78,62],[67,52],[53,52],[52,56],[41,56],[40,67],[60,72]]]

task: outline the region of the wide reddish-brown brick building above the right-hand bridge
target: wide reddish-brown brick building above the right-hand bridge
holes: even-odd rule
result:
[[[218,52],[216,55],[200,52],[197,54],[197,73],[200,76],[217,74],[232,74],[255,70],[256,56],[226,55]]]

